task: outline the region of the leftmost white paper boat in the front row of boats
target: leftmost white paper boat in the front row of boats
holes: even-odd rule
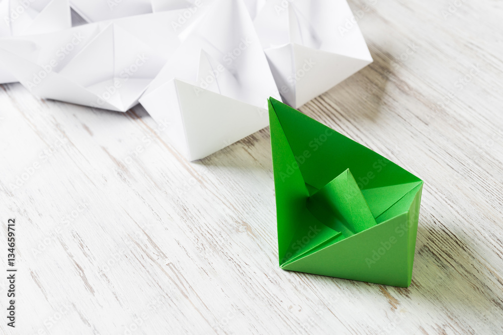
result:
[[[180,46],[179,11],[0,40],[0,62],[33,94],[116,111],[138,102]],[[184,31],[185,29],[185,31]]]

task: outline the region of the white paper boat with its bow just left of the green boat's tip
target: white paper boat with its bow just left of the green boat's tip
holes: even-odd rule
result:
[[[268,125],[279,97],[242,0],[217,0],[140,98],[187,159],[204,158]]]

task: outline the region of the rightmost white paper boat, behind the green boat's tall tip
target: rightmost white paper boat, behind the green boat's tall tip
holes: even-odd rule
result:
[[[372,62],[346,0],[246,0],[283,100],[297,108]]]

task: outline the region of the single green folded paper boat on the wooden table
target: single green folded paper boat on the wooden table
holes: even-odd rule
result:
[[[269,99],[280,267],[407,287],[423,181]]]

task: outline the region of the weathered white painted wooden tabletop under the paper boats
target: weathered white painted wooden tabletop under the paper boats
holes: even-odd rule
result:
[[[9,84],[0,332],[503,332],[503,2],[454,3],[351,1],[374,63],[300,108],[425,180],[409,288],[278,268],[268,129],[189,163],[141,107]]]

